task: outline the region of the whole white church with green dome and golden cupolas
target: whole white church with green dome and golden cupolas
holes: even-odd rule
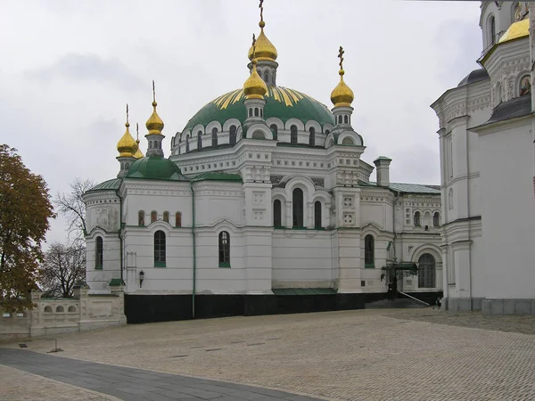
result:
[[[90,292],[124,283],[129,322],[360,308],[384,297],[385,268],[417,266],[398,290],[436,299],[440,186],[361,159],[342,48],[329,110],[277,85],[259,27],[243,87],[202,107],[168,158],[155,99],[146,156],[127,119],[119,176],[84,195]]]

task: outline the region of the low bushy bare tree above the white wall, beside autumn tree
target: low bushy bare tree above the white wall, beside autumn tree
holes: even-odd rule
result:
[[[86,277],[86,247],[54,242],[45,252],[40,283],[49,296],[70,298],[74,284]]]

